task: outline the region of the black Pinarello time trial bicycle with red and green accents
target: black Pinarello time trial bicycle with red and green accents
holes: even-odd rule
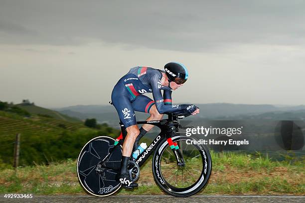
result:
[[[137,121],[137,124],[155,125],[161,131],[137,159],[131,156],[128,172],[131,180],[137,181],[140,167],[154,152],[152,174],[157,185],[169,195],[188,197],[207,185],[212,170],[211,155],[205,145],[190,142],[197,138],[178,131],[182,128],[178,119],[190,114],[165,114],[168,115],[167,119]],[[95,137],[85,144],[79,154],[78,178],[84,190],[91,195],[110,196],[122,187],[116,181],[116,175],[121,170],[122,145],[127,131],[122,122],[120,124],[122,131],[117,139],[110,136]]]

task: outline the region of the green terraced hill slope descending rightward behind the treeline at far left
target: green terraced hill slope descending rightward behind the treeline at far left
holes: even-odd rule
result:
[[[81,120],[79,118],[71,117],[68,114],[61,114],[55,110],[36,106],[32,103],[30,103],[30,104],[19,103],[19,104],[16,104],[15,106],[18,106],[18,107],[28,111],[29,113],[33,113],[33,114],[47,115],[47,116],[50,116],[55,119],[69,121],[69,122],[81,122]]]

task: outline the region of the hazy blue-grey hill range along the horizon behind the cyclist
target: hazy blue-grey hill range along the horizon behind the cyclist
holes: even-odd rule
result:
[[[253,115],[263,113],[272,113],[272,119],[291,119],[298,118],[302,115],[297,115],[297,111],[305,110],[305,105],[299,106],[276,106],[271,104],[233,104],[233,103],[205,103],[196,104],[200,108],[200,119],[243,119],[243,117],[250,118]],[[62,114],[77,117],[79,119],[96,118],[98,122],[106,122],[112,127],[118,128],[118,114],[112,105],[76,105],[63,108],[56,108]],[[278,113],[277,113],[278,112]],[[291,112],[289,115],[284,112]],[[148,117],[147,113],[136,112],[137,120],[144,120]],[[197,117],[197,118],[198,118]],[[264,117],[268,119],[270,116],[257,116],[261,119]]]

